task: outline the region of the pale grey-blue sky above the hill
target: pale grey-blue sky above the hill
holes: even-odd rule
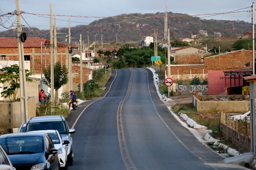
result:
[[[22,14],[22,25],[25,27],[37,27],[50,29],[50,4],[52,15],[56,14],[57,27],[84,25],[94,20],[120,14],[132,13],[156,13],[168,12],[200,15],[203,19],[216,20],[244,20],[252,22],[252,0],[19,0],[20,11],[30,14]],[[12,23],[16,22],[16,16],[4,15],[16,10],[16,0],[0,0],[0,31],[6,31]],[[244,8],[244,9],[243,9]],[[243,11],[243,12],[241,12]],[[204,14],[220,14],[215,16]],[[36,15],[40,14],[40,15]],[[61,16],[58,16],[61,15]],[[82,17],[78,17],[82,16]],[[207,17],[206,17],[207,16]],[[2,24],[4,23],[4,24]]]

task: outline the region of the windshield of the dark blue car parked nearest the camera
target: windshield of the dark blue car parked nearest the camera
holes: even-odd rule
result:
[[[43,150],[42,137],[13,137],[0,139],[0,145],[10,154],[34,154]]]

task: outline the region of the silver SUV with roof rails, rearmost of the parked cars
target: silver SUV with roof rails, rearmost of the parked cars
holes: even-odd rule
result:
[[[69,129],[66,119],[62,115],[56,116],[38,116],[31,117],[26,123],[25,132],[39,130],[58,130],[64,141],[68,144],[68,165],[73,163],[73,143],[71,133],[75,133],[75,129]]]

